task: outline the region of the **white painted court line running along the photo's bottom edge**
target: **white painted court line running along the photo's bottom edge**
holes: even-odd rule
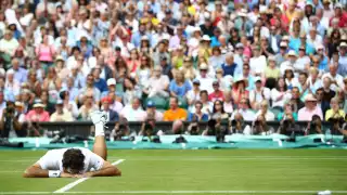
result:
[[[317,194],[318,191],[100,191],[64,192],[64,194]],[[331,191],[332,194],[347,194],[347,191]],[[52,194],[52,192],[0,192],[0,195]]]

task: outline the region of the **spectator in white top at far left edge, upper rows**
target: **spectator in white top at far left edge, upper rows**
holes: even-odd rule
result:
[[[9,29],[4,31],[3,38],[0,40],[0,56],[4,61],[5,68],[10,68],[11,57],[15,54],[15,50],[20,46],[18,41],[13,37],[13,32]]]

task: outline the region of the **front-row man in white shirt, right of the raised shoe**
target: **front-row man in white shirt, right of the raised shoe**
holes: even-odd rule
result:
[[[145,112],[141,107],[141,100],[133,98],[131,104],[126,105],[119,113],[119,116],[128,121],[143,121]]]

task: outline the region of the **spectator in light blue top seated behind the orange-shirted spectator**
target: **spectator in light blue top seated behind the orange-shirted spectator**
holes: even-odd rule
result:
[[[184,79],[183,72],[178,72],[175,79],[170,82],[171,96],[183,98],[189,90],[192,89],[191,83]]]

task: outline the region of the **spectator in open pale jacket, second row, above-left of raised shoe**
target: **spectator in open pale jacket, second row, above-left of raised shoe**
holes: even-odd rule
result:
[[[90,95],[92,96],[92,100],[97,102],[97,104],[100,102],[101,92],[98,88],[94,87],[94,76],[92,74],[89,74],[87,76],[86,87],[79,90],[79,96],[78,96],[79,103],[86,102],[85,96],[87,95],[87,92],[91,92]]]

